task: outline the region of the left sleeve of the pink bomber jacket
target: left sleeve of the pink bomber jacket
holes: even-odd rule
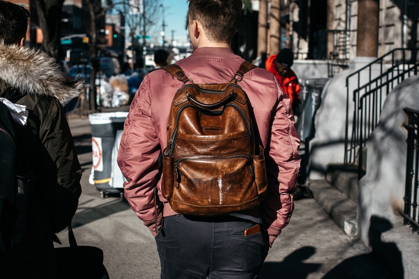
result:
[[[117,162],[126,179],[123,185],[125,198],[153,235],[157,234],[155,202],[157,226],[161,225],[163,216],[162,203],[155,198],[159,154],[160,145],[153,125],[150,86],[146,76],[131,103]]]

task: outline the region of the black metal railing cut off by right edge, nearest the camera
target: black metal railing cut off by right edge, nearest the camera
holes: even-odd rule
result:
[[[399,213],[403,216],[403,224],[411,226],[412,231],[419,233],[419,111],[410,108],[403,110],[409,121],[403,125],[407,129],[406,181],[403,198],[404,210]]]

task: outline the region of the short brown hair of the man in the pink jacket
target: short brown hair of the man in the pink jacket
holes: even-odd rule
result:
[[[230,43],[242,16],[242,0],[189,0],[190,20],[202,24],[210,40]]]

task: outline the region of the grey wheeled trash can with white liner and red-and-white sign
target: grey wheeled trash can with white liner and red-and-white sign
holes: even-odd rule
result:
[[[112,176],[115,176],[117,167],[117,150],[115,151],[114,149],[119,147],[119,140],[121,139],[120,136],[117,138],[116,135],[118,131],[123,130],[123,124],[127,115],[128,112],[89,115],[92,135],[92,171],[89,182],[96,186],[102,197],[105,197],[107,193],[122,194],[122,183],[118,182],[114,185]],[[122,174],[118,176],[121,177]]]

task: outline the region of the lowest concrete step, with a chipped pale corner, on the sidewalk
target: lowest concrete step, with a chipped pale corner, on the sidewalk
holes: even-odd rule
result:
[[[349,236],[356,236],[356,203],[326,180],[310,180],[314,199]]]

